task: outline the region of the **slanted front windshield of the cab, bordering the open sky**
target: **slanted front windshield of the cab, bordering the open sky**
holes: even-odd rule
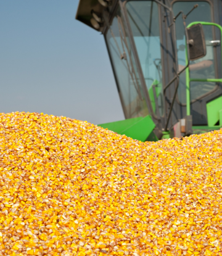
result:
[[[126,118],[145,117],[148,109],[120,9],[105,35]]]

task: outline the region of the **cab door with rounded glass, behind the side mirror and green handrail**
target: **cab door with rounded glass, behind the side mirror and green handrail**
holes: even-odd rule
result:
[[[173,12],[176,15],[180,10],[184,14],[192,9],[194,4],[198,7],[186,19],[186,24],[192,22],[214,22],[213,3],[210,1],[173,1]],[[203,25],[207,54],[189,65],[190,107],[193,126],[207,126],[207,102],[222,94],[221,83],[221,32],[212,25]],[[185,35],[183,20],[176,20],[176,46],[178,51],[179,70],[186,65]],[[178,97],[183,115],[186,115],[186,72],[180,76]],[[216,124],[215,124],[216,125]]]

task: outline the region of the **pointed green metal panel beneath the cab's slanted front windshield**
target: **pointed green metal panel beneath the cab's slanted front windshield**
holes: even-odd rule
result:
[[[136,117],[123,121],[103,123],[98,126],[108,128],[110,131],[115,131],[115,133],[118,134],[125,134],[133,139],[138,139],[138,141],[146,141],[150,133],[152,133],[152,130],[154,130],[155,123],[150,115],[147,115],[146,117]]]

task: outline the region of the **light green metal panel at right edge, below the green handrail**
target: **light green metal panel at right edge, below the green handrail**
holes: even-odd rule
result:
[[[220,120],[219,111],[222,109],[222,96],[207,103],[208,126],[215,126]]]

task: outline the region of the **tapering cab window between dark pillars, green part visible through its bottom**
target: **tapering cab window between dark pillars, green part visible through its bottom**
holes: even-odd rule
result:
[[[126,12],[154,113],[163,115],[162,62],[158,4],[128,1]]]

